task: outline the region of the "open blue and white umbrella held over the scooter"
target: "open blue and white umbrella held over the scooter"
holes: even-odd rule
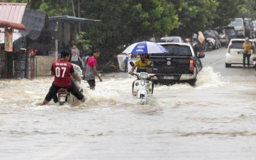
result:
[[[168,52],[162,45],[154,42],[138,42],[136,44],[129,45],[124,51],[126,54],[152,54],[152,53],[164,53]]]

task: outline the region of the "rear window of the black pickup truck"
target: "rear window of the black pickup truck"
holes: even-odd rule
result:
[[[190,47],[183,45],[163,45],[169,52],[165,56],[192,56]]]

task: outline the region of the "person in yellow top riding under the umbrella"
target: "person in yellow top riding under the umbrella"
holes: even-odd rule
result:
[[[137,68],[138,73],[140,72],[147,72],[150,74],[153,68],[153,62],[148,60],[148,54],[140,54],[140,60],[135,61],[134,67],[131,68],[129,74],[133,74],[133,71]]]

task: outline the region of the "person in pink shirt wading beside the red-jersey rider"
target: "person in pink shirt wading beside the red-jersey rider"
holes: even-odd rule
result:
[[[95,75],[99,77],[100,82],[102,82],[102,79],[97,72],[97,59],[100,56],[100,50],[99,49],[94,49],[93,50],[93,56],[91,56],[87,63],[86,63],[86,71],[84,74],[84,79],[88,82],[90,85],[90,89],[94,90],[95,89]]]

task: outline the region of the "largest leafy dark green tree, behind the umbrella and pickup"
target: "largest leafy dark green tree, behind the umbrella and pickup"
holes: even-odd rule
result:
[[[102,50],[102,60],[111,60],[124,45],[149,36],[164,35],[179,26],[173,4],[157,0],[86,1],[81,17],[102,22],[84,28],[93,46]]]

